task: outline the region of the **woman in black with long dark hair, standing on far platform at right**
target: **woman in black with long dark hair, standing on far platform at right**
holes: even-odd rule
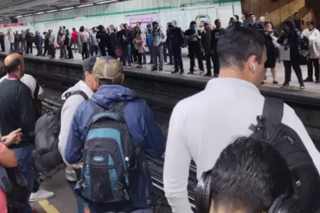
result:
[[[299,65],[301,56],[299,53],[299,45],[301,43],[301,37],[299,31],[294,26],[294,22],[287,19],[283,22],[283,29],[280,33],[280,38],[277,43],[282,45],[284,50],[289,51],[289,60],[284,60],[284,83],[282,87],[289,87],[291,81],[292,68],[297,75],[300,88],[304,89],[304,81],[302,79],[302,70]]]

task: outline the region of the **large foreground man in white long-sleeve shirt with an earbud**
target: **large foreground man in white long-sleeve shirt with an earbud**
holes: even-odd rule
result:
[[[265,97],[256,85],[265,77],[267,60],[264,40],[248,28],[234,28],[221,36],[217,46],[220,75],[206,89],[179,102],[171,115],[164,191],[173,212],[192,213],[188,203],[188,174],[191,159],[197,178],[213,168],[220,152],[238,136],[250,136],[250,124],[257,124]],[[302,121],[284,104],[282,123],[294,129],[320,171],[316,150]]]

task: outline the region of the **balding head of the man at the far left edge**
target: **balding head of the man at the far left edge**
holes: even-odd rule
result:
[[[23,76],[24,73],[24,59],[23,56],[19,53],[12,53],[8,55],[4,59],[4,67],[6,68],[6,72],[16,73],[20,77]]]

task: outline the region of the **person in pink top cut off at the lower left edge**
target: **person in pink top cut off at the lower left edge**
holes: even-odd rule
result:
[[[1,137],[0,142],[0,165],[5,168],[14,168],[18,165],[18,159],[8,146],[18,144],[21,141],[21,129],[11,132],[8,136]],[[0,188],[0,213],[7,213],[6,193]]]

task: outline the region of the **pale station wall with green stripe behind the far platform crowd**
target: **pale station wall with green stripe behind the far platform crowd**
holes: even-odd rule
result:
[[[230,16],[240,13],[240,0],[132,0],[28,16],[19,18],[18,22],[33,23],[36,30],[45,31],[53,26],[77,29],[80,26],[92,27],[99,24],[108,26],[110,23],[119,26],[119,23],[132,19],[153,18],[161,25],[176,21],[184,30],[197,16],[198,22],[208,18],[214,22],[216,18],[220,18],[223,25],[228,25]]]

